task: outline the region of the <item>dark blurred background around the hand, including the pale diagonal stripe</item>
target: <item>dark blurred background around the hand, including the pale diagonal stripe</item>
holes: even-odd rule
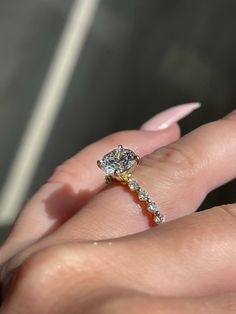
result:
[[[203,104],[183,134],[234,109],[235,12],[233,0],[0,0],[1,241],[85,145],[176,104]]]

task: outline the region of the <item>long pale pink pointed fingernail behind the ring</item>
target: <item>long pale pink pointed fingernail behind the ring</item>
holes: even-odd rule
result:
[[[161,113],[158,113],[156,116],[145,122],[141,126],[141,130],[157,131],[167,129],[172,124],[180,121],[200,107],[200,103],[193,102],[169,108],[165,111],[162,111]]]

